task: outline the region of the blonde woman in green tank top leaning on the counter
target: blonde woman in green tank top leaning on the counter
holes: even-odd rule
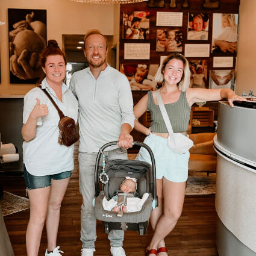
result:
[[[144,141],[153,151],[157,170],[158,207],[151,213],[151,226],[154,229],[146,255],[167,256],[164,238],[175,227],[185,197],[188,176],[189,151],[178,154],[167,144],[167,131],[157,93],[160,93],[174,133],[187,136],[190,109],[195,102],[219,101],[226,98],[233,107],[233,101],[241,101],[231,89],[189,88],[190,70],[187,59],[181,54],[170,54],[155,74],[155,81],[161,83],[158,91],[150,91],[134,106],[136,121],[134,129],[145,134]],[[146,128],[138,119],[146,110],[151,112],[151,127]],[[151,163],[151,157],[144,148],[140,149],[138,160]],[[164,202],[164,204],[163,204]]]

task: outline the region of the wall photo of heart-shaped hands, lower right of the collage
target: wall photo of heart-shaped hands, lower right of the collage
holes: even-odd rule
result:
[[[229,88],[235,90],[235,69],[213,69],[210,70],[209,88]]]

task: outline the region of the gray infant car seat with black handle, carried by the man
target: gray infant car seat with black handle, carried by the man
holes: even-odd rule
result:
[[[157,207],[156,195],[156,178],[155,178],[155,160],[154,155],[148,145],[140,142],[133,142],[136,146],[143,146],[151,156],[152,166],[144,161],[137,160],[108,160],[105,165],[105,173],[108,175],[108,183],[102,184],[102,189],[99,189],[99,161],[102,152],[105,148],[111,145],[116,145],[117,142],[110,142],[102,146],[98,152],[95,166],[95,214],[96,219],[101,220],[104,225],[105,233],[109,233],[112,229],[119,230],[134,230],[139,231],[140,235],[146,233],[148,228],[148,220],[151,210]],[[102,200],[104,196],[107,200],[111,199],[120,189],[120,184],[125,180],[125,176],[137,178],[137,193],[139,197],[147,192],[148,199],[142,206],[140,211],[133,213],[123,213],[122,217],[117,216],[114,211],[104,210]]]

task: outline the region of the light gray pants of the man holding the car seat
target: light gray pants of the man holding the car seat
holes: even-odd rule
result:
[[[96,217],[92,205],[95,197],[95,162],[98,153],[79,152],[79,186],[83,196],[81,206],[81,241],[83,248],[94,248],[96,241]],[[104,152],[107,160],[127,159],[126,149],[117,148]],[[100,161],[102,167],[102,157]],[[123,245],[124,232],[122,230],[112,230],[108,234],[110,245],[119,247]]]

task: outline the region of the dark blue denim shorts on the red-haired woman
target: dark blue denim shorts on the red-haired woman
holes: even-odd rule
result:
[[[62,180],[71,176],[71,170],[52,175],[34,176],[30,174],[24,164],[24,178],[27,189],[39,189],[51,186],[51,180]]]

